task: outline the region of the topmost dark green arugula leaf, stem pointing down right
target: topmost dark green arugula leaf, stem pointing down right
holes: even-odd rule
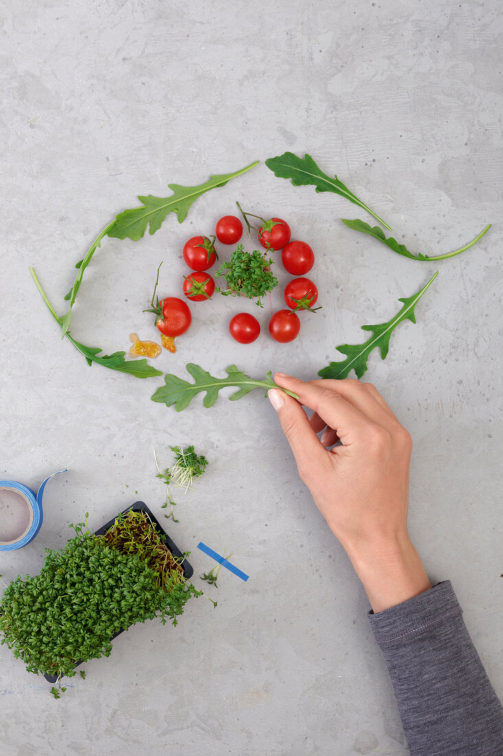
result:
[[[292,152],[285,152],[277,157],[270,157],[266,160],[267,168],[273,172],[275,176],[279,178],[291,178],[292,184],[295,187],[306,186],[313,184],[316,187],[316,192],[332,191],[334,194],[340,194],[341,197],[346,197],[347,200],[353,202],[355,205],[363,207],[364,210],[373,215],[376,221],[381,223],[384,228],[391,231],[391,227],[384,223],[384,221],[375,215],[375,212],[371,210],[362,200],[359,200],[347,186],[344,186],[342,181],[339,181],[337,176],[331,178],[323,173],[314,162],[310,155],[304,155],[304,157],[298,157]]]

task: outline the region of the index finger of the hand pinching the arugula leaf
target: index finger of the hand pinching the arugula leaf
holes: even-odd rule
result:
[[[359,441],[368,432],[369,420],[335,389],[307,383],[285,373],[275,373],[274,381],[282,389],[295,392],[301,404],[314,410],[337,432],[344,446]]]

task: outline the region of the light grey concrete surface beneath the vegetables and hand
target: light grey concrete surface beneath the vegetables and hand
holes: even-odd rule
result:
[[[176,355],[221,375],[310,378],[440,270],[417,324],[393,334],[367,378],[412,432],[410,527],[433,581],[450,578],[489,677],[501,655],[501,5],[437,0],[194,2],[11,0],[2,7],[2,468],[48,485],[45,522],[0,554],[5,580],[36,572],[45,547],[87,511],[99,526],[133,500],[162,513],[153,448],[194,443],[210,466],[169,523],[192,550],[233,550],[247,583],[221,575],[218,608],[193,601],[177,628],[148,622],[85,665],[55,702],[0,648],[0,752],[51,754],[406,754],[400,717],[344,552],[299,481],[259,392],[177,414],[150,401],[158,379],[88,367],[61,342],[29,275],[57,311],[73,265],[137,194],[169,194],[252,160],[307,151],[386,218],[418,263],[344,228],[371,220],[258,166],[169,216],[136,243],[105,240],[75,307],[73,335],[106,352],[155,334],[142,309],[156,266],[176,294],[187,237],[236,199],[280,215],[316,253],[322,311],[299,339],[232,342],[232,299],[193,306]],[[225,249],[223,250],[225,253]],[[287,276],[279,274],[282,283]],[[279,307],[276,291],[273,304]],[[267,307],[260,318],[267,332]]]

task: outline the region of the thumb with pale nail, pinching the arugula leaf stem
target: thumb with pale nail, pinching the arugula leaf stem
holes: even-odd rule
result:
[[[313,469],[313,463],[316,464],[325,449],[296,399],[277,389],[270,389],[267,396],[278,413],[282,430],[297,462],[299,475],[305,483],[307,471]]]

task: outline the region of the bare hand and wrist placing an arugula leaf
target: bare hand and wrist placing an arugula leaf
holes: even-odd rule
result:
[[[412,441],[370,383],[276,373],[268,392],[301,479],[341,541],[374,612],[431,587],[407,531]],[[308,419],[304,404],[314,411]],[[317,433],[323,431],[319,439]],[[341,445],[331,448],[338,440]]]

